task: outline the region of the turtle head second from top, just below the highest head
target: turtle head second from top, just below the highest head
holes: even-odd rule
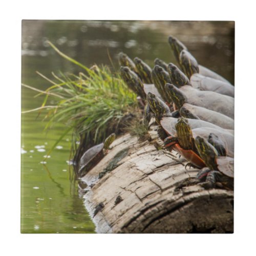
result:
[[[180,53],[180,65],[188,78],[195,73],[199,73],[197,60],[187,50],[182,50]]]

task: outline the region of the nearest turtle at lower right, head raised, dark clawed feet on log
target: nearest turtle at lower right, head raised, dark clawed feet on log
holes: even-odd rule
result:
[[[226,189],[233,189],[234,159],[219,156],[216,148],[200,136],[196,137],[195,145],[207,166],[197,175],[198,181],[203,182],[201,185],[205,188],[212,188],[220,184]]]

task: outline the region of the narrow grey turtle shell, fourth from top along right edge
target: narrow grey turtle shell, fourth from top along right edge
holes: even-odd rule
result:
[[[234,129],[234,119],[226,115],[189,103],[184,103],[183,106],[201,120],[214,123],[223,129]]]

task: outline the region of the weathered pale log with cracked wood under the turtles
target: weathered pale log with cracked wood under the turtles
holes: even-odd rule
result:
[[[88,187],[80,193],[96,232],[233,232],[233,191],[184,186],[198,169],[186,170],[184,159],[159,150],[161,141],[154,129],[151,138],[140,142],[129,134],[119,137],[109,154],[82,178]],[[126,154],[115,168],[99,178],[124,149]]]

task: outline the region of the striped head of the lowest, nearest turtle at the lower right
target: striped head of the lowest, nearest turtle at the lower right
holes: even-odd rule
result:
[[[216,148],[201,136],[196,137],[195,145],[200,157],[205,162],[205,165],[211,170],[218,170],[218,166],[216,163],[218,152]]]

